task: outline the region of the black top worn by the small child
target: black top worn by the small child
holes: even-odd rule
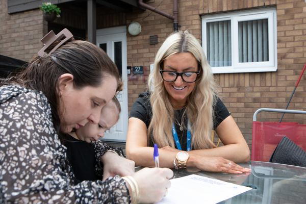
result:
[[[67,159],[72,166],[75,184],[83,181],[102,180],[102,177],[95,173],[96,159],[93,146],[71,135],[68,135],[67,138],[65,141]]]

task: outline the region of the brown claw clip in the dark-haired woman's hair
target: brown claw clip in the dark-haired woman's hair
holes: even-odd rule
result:
[[[65,37],[58,45],[56,45],[49,53],[46,53],[45,50],[54,42],[61,40]],[[68,40],[74,40],[73,35],[68,31],[68,29],[62,30],[59,34],[55,35],[53,31],[50,31],[45,37],[41,39],[44,46],[39,50],[38,56],[45,57],[50,56],[57,48],[59,48],[62,44],[67,42]]]

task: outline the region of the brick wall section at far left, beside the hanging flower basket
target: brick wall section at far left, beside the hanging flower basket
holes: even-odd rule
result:
[[[0,55],[29,61],[41,49],[46,32],[39,9],[8,14],[7,0],[0,0]]]

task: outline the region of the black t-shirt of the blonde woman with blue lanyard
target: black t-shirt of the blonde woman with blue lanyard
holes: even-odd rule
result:
[[[186,151],[187,150],[187,129],[184,128],[184,130],[181,131],[180,125],[179,125],[179,123],[182,122],[182,116],[183,116],[184,111],[185,111],[184,109],[175,111],[174,126],[175,126],[175,130],[177,133],[177,137],[179,137],[182,150]],[[214,106],[213,129],[216,130],[218,125],[228,116],[230,116],[230,113],[228,112],[227,108],[224,106],[220,98],[217,98],[217,103]],[[146,127],[147,128],[149,127],[149,124],[152,118],[152,107],[150,103],[150,93],[148,91],[139,94],[138,98],[136,99],[136,101],[134,102],[132,106],[130,118],[131,117],[142,120],[145,123]],[[183,123],[184,123],[184,126],[186,127],[188,123],[188,118],[184,117]],[[154,146],[154,143],[152,142],[152,140],[150,140],[149,146]],[[175,148],[177,148],[176,144],[175,144]]]

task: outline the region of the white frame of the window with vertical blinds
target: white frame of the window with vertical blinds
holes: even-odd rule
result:
[[[202,17],[202,47],[207,56],[207,23],[231,20],[232,66],[212,67],[213,73],[267,72],[277,70],[277,21],[276,8],[264,8],[205,15]],[[239,63],[238,22],[268,19],[269,61]],[[236,31],[236,33],[234,32]]]

